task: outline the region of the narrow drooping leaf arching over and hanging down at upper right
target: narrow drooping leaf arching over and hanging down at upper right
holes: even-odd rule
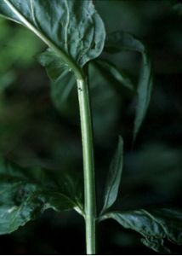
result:
[[[106,38],[105,50],[110,53],[117,53],[121,50],[139,52],[142,56],[142,67],[139,74],[137,86],[137,105],[134,119],[134,140],[139,132],[139,128],[145,119],[147,108],[149,107],[152,89],[151,61],[145,45],[139,39],[134,38],[128,32],[112,32]]]

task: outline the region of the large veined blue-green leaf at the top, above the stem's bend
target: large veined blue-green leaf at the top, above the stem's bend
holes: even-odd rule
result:
[[[3,0],[0,15],[29,28],[71,66],[73,60],[83,67],[104,46],[105,28],[92,1]]]

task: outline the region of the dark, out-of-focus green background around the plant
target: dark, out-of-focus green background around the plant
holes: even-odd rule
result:
[[[122,29],[147,45],[154,73],[151,105],[134,149],[134,97],[104,81],[100,90],[92,90],[99,209],[119,134],[125,153],[117,207],[181,207],[182,13],[172,8],[174,3],[178,2],[95,1],[107,32]],[[0,20],[0,153],[21,166],[82,172],[77,99],[54,107],[50,82],[37,64],[43,49],[31,32]],[[102,58],[113,61],[137,84],[139,55],[123,52]],[[98,253],[154,253],[139,240],[133,231],[108,220],[100,224]],[[0,236],[0,254],[82,254],[84,243],[84,224],[76,212],[48,211],[13,234]]]

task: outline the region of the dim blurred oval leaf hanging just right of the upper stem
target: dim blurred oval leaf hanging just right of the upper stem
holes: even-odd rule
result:
[[[88,65],[95,139],[103,145],[111,135],[120,116],[121,96],[95,62]],[[107,127],[107,129],[105,129]]]

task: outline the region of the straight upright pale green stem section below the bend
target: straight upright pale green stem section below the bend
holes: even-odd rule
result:
[[[77,79],[77,91],[82,129],[86,246],[87,254],[95,254],[96,198],[94,182],[94,145],[92,116],[86,79]]]

